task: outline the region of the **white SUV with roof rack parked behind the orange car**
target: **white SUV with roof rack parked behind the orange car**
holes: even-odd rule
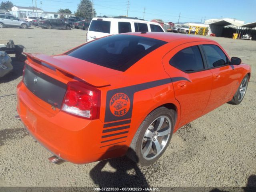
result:
[[[92,19],[88,32],[87,42],[111,34],[127,32],[165,32],[156,22],[129,17],[95,17]]]

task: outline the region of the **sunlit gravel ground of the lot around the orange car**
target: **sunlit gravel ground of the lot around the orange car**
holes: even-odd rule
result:
[[[50,164],[52,154],[15,120],[16,95],[0,98],[0,186],[256,186],[256,41],[207,37],[219,42],[230,56],[252,66],[243,102],[220,108],[180,128],[165,154],[149,167],[128,158],[76,165]],[[83,30],[41,28],[0,29],[0,44],[9,39],[27,52],[60,54],[86,40]],[[13,59],[14,71],[0,79],[0,96],[15,94],[23,63]],[[106,165],[105,165],[106,164]],[[102,166],[102,168],[99,168]],[[125,179],[126,177],[127,179]],[[119,180],[119,178],[124,178]]]

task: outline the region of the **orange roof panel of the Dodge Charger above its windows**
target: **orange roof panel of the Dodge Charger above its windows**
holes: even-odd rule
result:
[[[182,39],[191,39],[193,41],[211,41],[213,40],[198,37],[195,35],[188,35],[188,34],[179,34],[179,33],[163,33],[163,32],[133,32],[133,33],[123,33],[127,35],[136,35],[142,37],[148,37],[153,39],[162,40],[165,42],[172,42],[175,40],[182,40]]]

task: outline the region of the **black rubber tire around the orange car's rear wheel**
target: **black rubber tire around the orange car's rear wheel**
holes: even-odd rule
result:
[[[160,118],[161,116],[166,116],[170,120],[170,133],[167,135],[168,138],[166,138],[166,144],[161,148],[161,152],[157,156],[153,156],[152,159],[146,159],[144,158],[142,154],[142,145],[143,142],[145,142],[145,133],[148,131],[148,128],[152,125],[153,122],[156,122],[155,120]],[[176,112],[175,110],[168,109],[165,107],[160,107],[152,111],[148,116],[144,119],[140,127],[138,128],[136,134],[134,135],[134,138],[132,140],[132,143],[130,144],[130,148],[128,149],[126,156],[133,160],[134,162],[140,164],[141,166],[148,166],[156,162],[160,156],[164,153],[166,148],[168,147],[168,144],[172,138],[173,128],[175,124],[175,117]],[[167,122],[167,121],[166,121]],[[161,139],[161,138],[160,138]],[[152,142],[152,139],[150,139]],[[154,138],[153,138],[154,140]],[[148,141],[146,141],[148,142]],[[161,143],[162,144],[162,143]],[[153,146],[153,145],[152,145]],[[156,145],[155,145],[156,146]],[[150,147],[151,148],[151,147]],[[152,150],[152,149],[151,149]]]

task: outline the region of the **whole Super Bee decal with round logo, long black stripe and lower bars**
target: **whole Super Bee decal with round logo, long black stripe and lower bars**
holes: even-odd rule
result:
[[[180,80],[190,82],[190,80],[184,77],[174,77],[109,90],[106,99],[105,120],[101,136],[102,140],[100,142],[102,146],[100,147],[126,142],[130,129],[130,118],[132,117],[134,93]],[[120,132],[116,133],[116,131]]]

